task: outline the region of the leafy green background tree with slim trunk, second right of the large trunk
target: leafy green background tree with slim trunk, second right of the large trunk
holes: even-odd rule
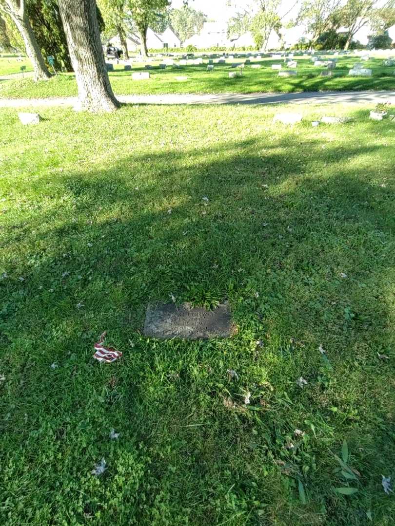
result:
[[[141,42],[141,56],[147,58],[147,31],[155,23],[158,16],[170,5],[169,0],[127,0],[133,22],[139,33]]]

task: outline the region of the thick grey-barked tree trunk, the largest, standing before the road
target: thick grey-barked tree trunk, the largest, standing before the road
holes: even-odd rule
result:
[[[78,107],[112,112],[119,107],[108,79],[95,0],[58,0],[78,87]]]

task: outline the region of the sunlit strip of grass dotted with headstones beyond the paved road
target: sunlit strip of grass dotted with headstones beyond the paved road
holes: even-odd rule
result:
[[[164,93],[291,93],[325,90],[379,90],[395,89],[393,67],[383,67],[382,59],[371,58],[364,67],[373,69],[372,77],[349,77],[349,70],[359,57],[339,57],[338,67],[333,71],[333,77],[320,77],[324,67],[314,66],[310,58],[295,58],[298,62],[298,76],[283,78],[271,69],[272,64],[281,60],[262,59],[254,61],[261,64],[261,69],[252,69],[246,65],[241,78],[229,78],[232,62],[243,62],[243,59],[229,60],[228,64],[215,64],[212,72],[207,71],[207,65],[182,66],[174,69],[167,66],[159,69],[159,62],[154,63],[150,70],[149,80],[132,80],[131,72],[125,72],[123,65],[116,65],[110,72],[110,80],[114,92],[118,95],[127,94],[164,94]],[[284,65],[284,68],[286,66]],[[133,66],[133,71],[142,71],[140,64]],[[175,77],[187,76],[188,80],[178,82]],[[33,79],[6,80],[0,83],[0,97],[40,98],[73,96],[77,94],[73,74],[60,74],[50,81],[35,83]]]

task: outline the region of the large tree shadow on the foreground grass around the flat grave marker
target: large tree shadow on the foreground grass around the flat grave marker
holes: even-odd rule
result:
[[[308,154],[299,153],[301,141]],[[284,157],[287,147],[294,155]],[[300,461],[285,445],[298,422],[310,419],[330,446],[340,442],[333,429],[353,437],[353,458],[369,473],[380,472],[382,464],[372,453],[358,452],[357,444],[372,452],[381,448],[384,463],[390,458],[386,431],[376,428],[378,420],[387,420],[378,389],[386,371],[374,369],[369,378],[359,361],[372,369],[376,351],[393,343],[387,323],[393,316],[387,304],[393,196],[378,184],[374,165],[361,170],[353,163],[386,151],[377,145],[339,149],[290,134],[270,148],[251,138],[132,154],[111,169],[34,181],[45,195],[60,193],[65,204],[47,214],[36,210],[29,224],[10,228],[3,248],[18,254],[24,244],[29,256],[14,259],[24,281],[9,281],[2,327],[3,344],[12,349],[4,363],[18,379],[8,393],[14,410],[5,431],[14,439],[19,433],[35,462],[43,462],[44,444],[54,454],[47,460],[53,472],[37,478],[41,490],[53,494],[54,459],[72,472],[73,462],[106,455],[111,477],[118,448],[146,462],[149,483],[142,478],[140,488],[149,505],[139,504],[142,523],[152,520],[155,499],[164,499],[162,511],[173,522],[184,508],[196,524],[240,524],[241,517],[245,524],[259,523],[259,517],[270,523],[287,520],[290,500],[298,508],[292,486],[281,480],[299,476],[314,454],[323,460],[320,474],[304,480],[309,512],[325,501],[334,521],[358,524],[358,503],[331,497],[330,477],[322,473],[332,473],[333,466],[323,452],[300,444]],[[328,173],[317,166],[327,166]],[[240,329],[233,339],[156,342],[139,336],[151,299],[199,299],[209,292],[230,299]],[[124,351],[123,361],[108,368],[90,363],[103,329]],[[304,347],[290,345],[290,337]],[[259,339],[264,347],[256,351],[252,342]],[[324,380],[318,379],[320,357],[312,352],[322,340],[338,374],[352,380],[353,368],[367,384],[349,390],[338,378],[340,392],[325,387],[330,375],[321,371]],[[29,358],[37,348],[36,358]],[[52,362],[60,367],[52,371]],[[236,389],[226,383],[228,367],[241,377]],[[301,391],[294,381],[300,374],[310,375],[315,387]],[[268,410],[258,399],[256,411],[223,407],[226,390],[238,400],[243,389],[265,381],[275,389],[265,395]],[[348,403],[358,408],[362,423],[344,423]],[[331,411],[336,404],[343,408],[339,417]],[[122,429],[117,448],[108,446],[108,427]],[[369,430],[363,437],[362,429]],[[273,459],[289,465],[290,479]],[[265,477],[256,466],[264,467]],[[121,513],[92,504],[91,491],[84,491],[93,512],[106,518]],[[129,499],[125,495],[127,505]],[[259,516],[252,511],[258,499],[270,504]],[[234,516],[234,505],[241,515]]]

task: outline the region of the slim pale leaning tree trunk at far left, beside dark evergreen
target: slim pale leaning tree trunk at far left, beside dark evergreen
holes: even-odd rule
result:
[[[27,56],[31,59],[35,80],[51,78],[40,46],[37,44],[31,23],[25,9],[24,0],[0,0],[0,11],[6,13],[14,22],[23,38]]]

